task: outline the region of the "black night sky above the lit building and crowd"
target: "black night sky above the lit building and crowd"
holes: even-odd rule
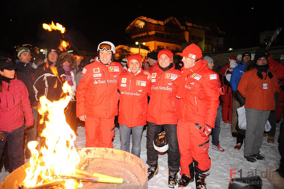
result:
[[[129,38],[126,27],[139,16],[161,21],[175,17],[194,24],[213,22],[226,32],[227,43],[235,49],[255,46],[260,32],[284,26],[284,7],[276,1],[257,4],[254,1],[15,2],[1,2],[1,51],[11,51],[13,46],[24,43],[39,47],[46,42],[42,24],[51,21],[62,24],[66,35],[73,32],[95,48],[104,40],[116,46],[123,43]],[[282,42],[283,33],[278,37]]]

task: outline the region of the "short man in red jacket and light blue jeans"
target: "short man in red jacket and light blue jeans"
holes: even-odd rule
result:
[[[147,92],[150,81],[142,72],[142,56],[140,54],[132,54],[127,57],[127,65],[127,72],[120,74],[118,78],[120,149],[130,152],[131,132],[131,153],[140,158],[142,131],[144,125],[147,124]]]

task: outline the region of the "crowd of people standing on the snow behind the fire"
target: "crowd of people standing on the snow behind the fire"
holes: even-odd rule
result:
[[[86,147],[113,148],[118,115],[120,149],[130,152],[132,135],[131,153],[140,157],[146,125],[148,180],[158,173],[158,153],[167,151],[170,188],[186,187],[194,180],[196,188],[206,188],[210,134],[212,148],[225,151],[219,144],[221,117],[231,124],[232,137],[237,139],[234,149],[240,150],[245,142],[247,161],[265,160],[260,155],[263,137],[268,135],[267,142],[274,142],[284,108],[284,55],[280,63],[263,48],[255,54],[245,52],[231,56],[217,73],[214,60],[203,57],[195,44],[179,54],[176,64],[169,49],[152,51],[144,60],[131,54],[121,63],[114,61],[111,42],[101,42],[97,51],[84,68],[80,59],[53,47],[46,60],[34,63],[26,47],[18,48],[15,64],[10,55],[0,54],[0,154],[6,171],[31,157],[27,143],[37,140],[45,128],[44,122],[38,124],[41,96],[50,101],[72,97],[64,112],[66,122],[76,135],[80,121],[84,122]],[[72,89],[69,94],[62,90],[65,81]],[[237,109],[242,106],[246,129],[239,128]],[[42,116],[47,120],[47,113]],[[267,120],[271,129],[266,133]],[[40,147],[44,146],[45,138],[40,136]],[[282,159],[278,172],[283,176]]]

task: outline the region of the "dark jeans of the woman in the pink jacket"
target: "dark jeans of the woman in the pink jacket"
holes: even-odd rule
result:
[[[11,133],[1,131],[4,133],[8,142],[8,156],[10,162],[10,172],[14,171],[18,167],[24,165],[24,126],[14,129]],[[0,154],[2,154],[6,142],[0,140]]]

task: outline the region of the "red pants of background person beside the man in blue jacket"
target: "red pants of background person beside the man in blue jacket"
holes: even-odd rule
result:
[[[224,120],[225,122],[227,122],[227,120],[229,120],[229,122],[232,122],[232,105],[233,105],[232,93],[224,93],[223,104],[222,104],[222,120]]]

